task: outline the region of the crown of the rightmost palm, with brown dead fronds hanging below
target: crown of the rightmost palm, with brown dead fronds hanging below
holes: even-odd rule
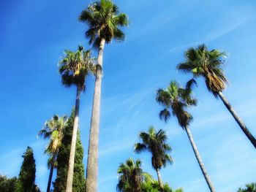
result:
[[[208,91],[217,96],[225,89],[227,78],[222,69],[225,63],[225,53],[219,50],[208,50],[206,45],[189,48],[185,53],[186,61],[178,64],[177,68],[183,72],[191,72],[194,77],[202,76],[206,80]]]

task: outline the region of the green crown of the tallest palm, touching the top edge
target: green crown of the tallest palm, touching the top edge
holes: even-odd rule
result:
[[[86,31],[89,43],[94,47],[99,46],[101,39],[107,43],[112,39],[121,41],[124,39],[124,33],[118,26],[128,26],[128,17],[124,13],[119,13],[116,4],[110,0],[96,1],[81,12],[79,20],[89,25]]]

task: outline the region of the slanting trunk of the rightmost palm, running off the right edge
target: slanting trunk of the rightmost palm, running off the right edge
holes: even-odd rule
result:
[[[253,137],[253,135],[251,134],[251,132],[248,130],[248,128],[246,128],[246,125],[244,124],[243,120],[241,120],[241,118],[238,116],[238,114],[236,113],[236,111],[233,109],[233,107],[231,106],[231,104],[227,101],[227,99],[225,98],[225,96],[223,95],[222,91],[218,92],[218,96],[220,99],[222,99],[223,103],[225,104],[225,106],[227,107],[227,110],[230,111],[231,115],[233,116],[233,118],[236,120],[236,122],[238,123],[238,125],[240,126],[240,128],[242,129],[242,131],[244,131],[244,134],[246,134],[246,137],[250,140],[250,142],[252,142],[252,145],[256,148],[256,139],[255,137]]]

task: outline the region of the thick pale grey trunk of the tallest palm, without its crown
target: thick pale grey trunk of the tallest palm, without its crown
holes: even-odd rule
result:
[[[100,111],[100,93],[102,86],[102,60],[105,39],[102,39],[99,45],[97,58],[97,72],[94,85],[94,101],[91,112],[91,128],[89,137],[88,163],[86,169],[86,192],[97,191],[98,178],[98,145],[99,145],[99,111]]]

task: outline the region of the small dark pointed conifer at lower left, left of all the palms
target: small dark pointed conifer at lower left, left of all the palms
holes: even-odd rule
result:
[[[36,192],[39,191],[34,184],[36,178],[36,164],[34,153],[31,147],[27,147],[26,153],[22,155],[23,164],[20,168],[20,174],[15,187],[15,192]]]

